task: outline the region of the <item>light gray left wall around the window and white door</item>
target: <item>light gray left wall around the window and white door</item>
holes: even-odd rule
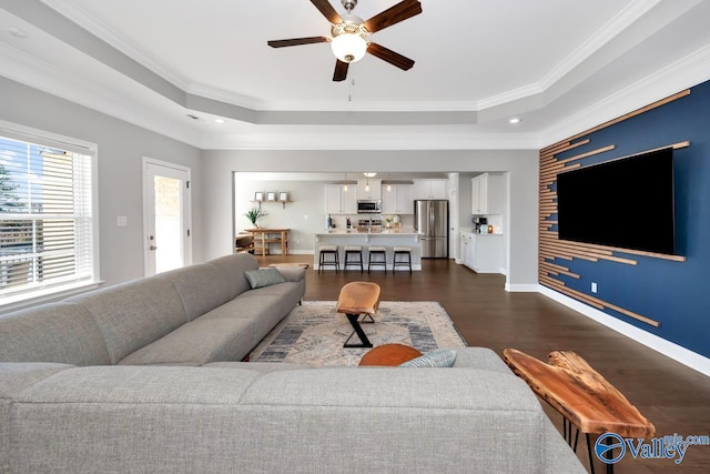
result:
[[[191,168],[193,260],[204,259],[200,150],[4,78],[0,104],[1,120],[98,144],[100,278],[105,284],[143,275],[143,157]],[[128,216],[128,226],[115,225],[118,215]]]

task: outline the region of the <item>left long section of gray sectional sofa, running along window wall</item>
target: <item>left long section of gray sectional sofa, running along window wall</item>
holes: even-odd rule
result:
[[[305,271],[251,289],[251,254],[134,280],[0,319],[0,361],[203,365],[240,361],[301,301]]]

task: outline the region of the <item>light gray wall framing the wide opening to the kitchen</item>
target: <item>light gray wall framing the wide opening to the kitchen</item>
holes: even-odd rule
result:
[[[233,172],[484,172],[509,171],[507,288],[537,286],[538,151],[214,150],[203,152],[204,258],[231,253]],[[271,204],[274,205],[274,204]]]

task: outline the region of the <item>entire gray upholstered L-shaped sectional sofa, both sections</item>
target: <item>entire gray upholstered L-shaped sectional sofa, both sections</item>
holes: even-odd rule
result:
[[[304,294],[230,255],[0,316],[2,473],[584,472],[490,350],[453,369],[240,361]]]

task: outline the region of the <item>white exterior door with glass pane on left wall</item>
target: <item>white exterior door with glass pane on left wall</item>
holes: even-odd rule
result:
[[[190,169],[143,159],[145,275],[192,263]]]

